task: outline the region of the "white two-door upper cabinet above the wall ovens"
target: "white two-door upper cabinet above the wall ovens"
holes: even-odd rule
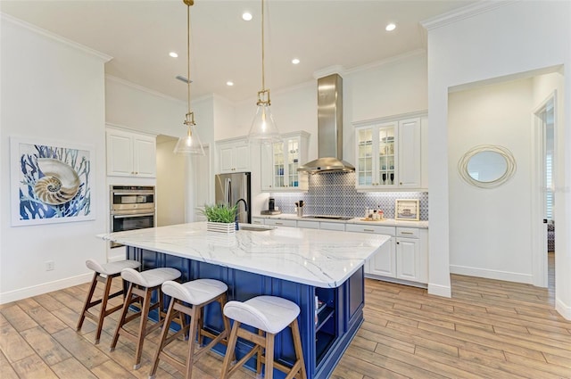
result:
[[[107,128],[107,175],[112,177],[156,177],[154,136]]]

